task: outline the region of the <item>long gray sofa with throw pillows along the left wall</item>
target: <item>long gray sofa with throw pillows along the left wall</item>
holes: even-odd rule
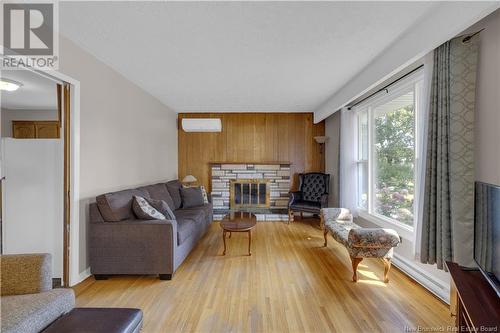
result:
[[[90,204],[90,270],[96,279],[115,274],[172,274],[208,230],[212,204],[183,208],[178,180],[100,195]],[[139,220],[134,195],[165,201],[175,220]]]

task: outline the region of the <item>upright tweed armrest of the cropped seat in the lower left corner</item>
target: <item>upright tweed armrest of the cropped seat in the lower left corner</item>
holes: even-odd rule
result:
[[[37,294],[52,289],[50,254],[10,254],[0,258],[2,296]]]

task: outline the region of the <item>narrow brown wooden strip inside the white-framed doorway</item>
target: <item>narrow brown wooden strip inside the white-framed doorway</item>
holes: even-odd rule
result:
[[[63,218],[63,284],[69,286],[69,248],[71,226],[71,102],[70,85],[65,83],[64,93],[64,218]]]

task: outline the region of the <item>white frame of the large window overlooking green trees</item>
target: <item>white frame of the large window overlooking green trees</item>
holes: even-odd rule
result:
[[[421,170],[419,168],[420,161],[423,158],[421,145],[421,136],[422,128],[423,128],[423,119],[422,115],[422,99],[423,99],[423,84],[424,84],[424,71],[423,69],[417,70],[412,73],[408,77],[402,79],[401,81],[392,85],[389,89],[385,90],[381,94],[377,94],[374,97],[371,97],[364,101],[362,104],[359,104],[355,107],[354,111],[357,115],[360,115],[363,112],[367,113],[367,124],[368,124],[368,160],[360,159],[360,147],[356,147],[358,153],[357,165],[359,170],[359,165],[362,163],[368,164],[368,201],[367,208],[360,207],[360,198],[358,197],[356,202],[358,205],[358,215],[371,221],[379,226],[387,227],[387,228],[395,228],[403,238],[412,239],[414,231],[416,230],[416,225],[418,223],[418,207],[419,207],[419,191],[421,190],[419,187]],[[372,111],[376,107],[394,99],[397,95],[404,94],[405,92],[414,92],[414,105],[415,105],[415,167],[414,167],[414,179],[415,179],[415,193],[414,193],[414,203],[413,203],[413,226],[409,226],[402,222],[399,222],[395,219],[388,218],[381,214],[378,214],[374,211],[374,160],[375,160],[375,152],[373,149],[374,142],[374,112]],[[395,96],[396,95],[396,96]],[[357,129],[359,129],[360,118],[357,119]],[[360,138],[359,133],[357,133],[358,140]],[[361,140],[359,144],[362,144]],[[359,172],[359,171],[358,171]],[[359,176],[358,176],[359,177]],[[359,179],[359,178],[358,178]],[[357,196],[359,196],[359,189],[361,186],[358,184],[358,188],[356,189]]]

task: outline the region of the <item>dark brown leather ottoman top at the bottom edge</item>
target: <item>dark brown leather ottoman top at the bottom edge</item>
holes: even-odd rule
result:
[[[142,311],[139,309],[75,308],[43,332],[138,333],[141,327]]]

